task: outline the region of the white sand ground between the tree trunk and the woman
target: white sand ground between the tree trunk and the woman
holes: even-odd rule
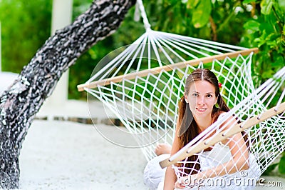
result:
[[[33,121],[20,155],[20,188],[147,189],[145,164],[140,149],[110,143],[93,125]]]

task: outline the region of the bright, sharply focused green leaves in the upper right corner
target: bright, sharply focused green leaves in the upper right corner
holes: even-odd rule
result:
[[[278,1],[263,0],[255,4],[254,11],[256,15],[244,24],[241,44],[259,48],[253,61],[254,81],[259,86],[285,65],[285,9]]]

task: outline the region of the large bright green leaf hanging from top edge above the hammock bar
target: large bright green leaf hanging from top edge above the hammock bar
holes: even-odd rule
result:
[[[195,28],[201,28],[209,21],[212,11],[210,0],[201,0],[195,10],[192,11],[192,24]]]

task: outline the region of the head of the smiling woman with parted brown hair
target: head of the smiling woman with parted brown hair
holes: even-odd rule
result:
[[[186,79],[185,95],[180,99],[179,119],[194,116],[199,132],[216,121],[219,114],[229,111],[219,94],[217,77],[209,69],[196,69]],[[217,104],[217,107],[215,106]],[[191,114],[189,114],[191,113]],[[185,120],[186,121],[186,120]],[[185,124],[185,122],[183,122]]]

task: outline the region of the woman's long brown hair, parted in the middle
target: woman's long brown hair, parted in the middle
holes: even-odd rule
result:
[[[214,121],[217,121],[219,114],[221,111],[229,111],[229,107],[222,99],[221,94],[219,94],[219,81],[217,79],[217,76],[214,75],[212,71],[209,69],[195,69],[195,71],[190,74],[185,82],[185,94],[189,94],[190,86],[195,81],[208,81],[210,84],[214,86],[215,89],[215,95],[217,97],[217,104],[219,105],[218,108],[216,106],[213,107],[212,110],[212,123]],[[180,99],[178,108],[178,136],[180,138],[180,149],[188,144],[192,139],[194,139],[198,134],[198,126],[197,122],[193,118],[192,111],[190,110],[190,107],[188,103],[185,101],[185,96],[182,96]],[[199,161],[197,160],[198,156],[193,155],[190,156],[187,159],[186,168],[187,171],[185,171],[187,174],[196,174],[197,171],[200,169]]]

